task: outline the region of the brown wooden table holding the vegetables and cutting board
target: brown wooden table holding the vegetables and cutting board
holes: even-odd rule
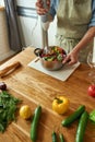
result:
[[[28,47],[9,61],[3,67],[20,61],[22,67],[10,75],[0,79],[7,83],[9,92],[23,100],[22,105],[28,104],[32,113],[37,105],[43,108],[38,126],[37,142],[51,142],[51,132],[62,132],[66,142],[74,142],[78,121],[71,127],[61,127],[61,120],[72,114],[80,105],[85,105],[91,113],[95,108],[95,98],[87,95],[90,80],[87,79],[88,67],[81,64],[74,73],[62,82],[46,75],[27,64],[35,58],[34,48]],[[67,96],[70,99],[70,108],[66,115],[58,115],[51,109],[52,99],[57,95]],[[4,133],[0,133],[0,142],[31,142],[29,138],[31,121],[23,120],[17,116],[17,121],[12,122]],[[88,121],[84,142],[95,142],[95,126]]]

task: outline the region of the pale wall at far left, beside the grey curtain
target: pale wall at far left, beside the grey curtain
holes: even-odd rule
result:
[[[14,51],[10,50],[4,3],[0,0],[0,62],[12,55]]]

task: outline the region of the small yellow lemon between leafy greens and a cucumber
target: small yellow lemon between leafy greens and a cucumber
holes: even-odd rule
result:
[[[31,116],[32,116],[32,110],[29,108],[28,105],[23,105],[21,108],[20,108],[20,116],[23,118],[23,119],[29,119]]]

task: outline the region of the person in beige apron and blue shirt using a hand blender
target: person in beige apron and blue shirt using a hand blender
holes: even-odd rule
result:
[[[37,0],[39,15],[49,12],[48,20],[57,15],[56,44],[68,52],[63,63],[86,62],[95,36],[95,0],[47,0],[48,9]]]

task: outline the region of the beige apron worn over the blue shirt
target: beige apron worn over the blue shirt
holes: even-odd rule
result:
[[[59,0],[56,45],[67,52],[80,42],[92,17],[92,0]],[[79,60],[86,62],[92,44],[80,51]]]

